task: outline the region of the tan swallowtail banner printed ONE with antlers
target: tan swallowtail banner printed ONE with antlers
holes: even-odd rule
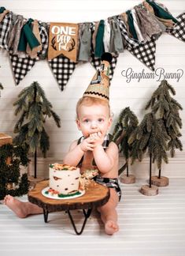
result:
[[[62,54],[76,62],[78,28],[78,24],[50,23],[48,60]]]

